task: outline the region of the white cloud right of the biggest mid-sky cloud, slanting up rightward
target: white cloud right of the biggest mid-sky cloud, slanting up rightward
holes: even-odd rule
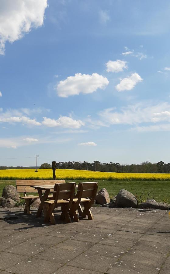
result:
[[[139,74],[132,73],[131,76],[121,79],[120,83],[116,85],[116,90],[123,91],[123,90],[132,90],[137,83],[142,82],[143,79]]]

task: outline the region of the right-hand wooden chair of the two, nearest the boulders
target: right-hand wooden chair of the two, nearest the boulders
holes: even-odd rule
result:
[[[93,220],[92,212],[90,210],[97,193],[98,183],[97,182],[90,182],[90,183],[79,183],[78,184],[78,191],[73,199],[73,203],[70,209],[70,217],[75,221],[79,221],[79,217],[85,218],[88,216],[88,220]],[[88,197],[88,198],[87,198]],[[82,210],[80,206],[80,202],[82,202],[84,209]],[[78,217],[78,213],[79,217]]]

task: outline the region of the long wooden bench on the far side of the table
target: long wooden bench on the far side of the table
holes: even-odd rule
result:
[[[30,205],[38,198],[38,195],[26,195],[26,193],[38,193],[37,189],[31,188],[30,185],[55,185],[56,183],[65,183],[64,180],[16,180],[16,190],[17,192],[23,192],[24,196],[19,198],[24,199],[26,206],[24,208],[24,213],[31,214]],[[47,198],[53,198],[53,195],[49,195]],[[46,199],[47,199],[46,198]]]

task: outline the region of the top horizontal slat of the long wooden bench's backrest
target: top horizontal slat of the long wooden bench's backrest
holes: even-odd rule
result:
[[[65,180],[16,180],[16,185],[46,185],[65,183]]]

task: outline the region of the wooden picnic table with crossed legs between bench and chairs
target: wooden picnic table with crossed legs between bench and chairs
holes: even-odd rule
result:
[[[50,194],[50,192],[54,192],[54,185],[50,185],[50,184],[49,185],[31,185],[30,187],[35,188],[38,191],[41,203],[36,213],[36,217],[40,217],[42,211],[44,212],[44,214],[46,213],[46,207],[44,205],[44,201],[48,199],[48,195]],[[78,184],[76,184],[76,188],[78,188]]]

